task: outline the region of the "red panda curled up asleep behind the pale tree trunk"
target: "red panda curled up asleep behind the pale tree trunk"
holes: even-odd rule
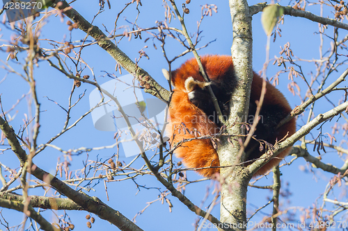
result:
[[[213,135],[219,132],[221,123],[219,119],[216,119],[216,111],[207,91],[207,85],[212,87],[223,116],[225,118],[228,116],[228,101],[235,89],[232,58],[228,55],[205,55],[201,57],[201,62],[211,81],[210,83],[205,83],[195,58],[184,62],[180,68],[172,71],[171,81],[175,89],[169,107],[170,119],[167,126],[167,130],[171,135],[171,148],[182,139],[195,138],[195,135],[192,135],[193,131],[196,131],[196,134],[200,136]],[[166,75],[168,76],[168,73]],[[257,108],[255,101],[260,99],[261,89],[262,78],[254,72],[249,117],[255,114]],[[285,123],[277,130],[276,126],[291,111],[292,109],[283,94],[267,82],[267,92],[260,111],[261,120],[254,132],[255,138],[275,144],[276,140],[279,141],[286,136],[290,137],[296,131],[295,119]],[[277,158],[262,166],[254,176],[267,173],[269,169],[279,164],[290,150],[291,147],[279,153]],[[251,139],[245,151],[249,153],[248,160],[255,160],[264,153],[264,151],[260,151],[259,143],[253,139]],[[219,157],[211,139],[193,139],[190,142],[184,142],[175,149],[174,153],[177,157],[182,158],[184,164],[190,168],[220,165]],[[216,172],[219,172],[219,168],[198,170],[198,173],[208,178]]]

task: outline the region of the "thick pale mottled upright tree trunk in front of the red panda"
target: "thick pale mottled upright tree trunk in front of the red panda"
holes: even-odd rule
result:
[[[248,109],[253,81],[253,35],[251,27],[252,15],[246,0],[230,0],[230,15],[232,21],[233,40],[231,55],[235,89],[230,97],[230,115],[227,131],[229,135],[244,135],[243,122],[248,118]],[[246,155],[239,155],[242,138],[231,139],[221,137],[219,146],[219,161],[221,166],[235,166],[220,169],[221,176],[221,206],[220,220],[230,224],[229,230],[245,230],[246,224],[246,191],[251,175],[242,172],[238,165],[246,160]],[[236,165],[237,164],[237,165]]]

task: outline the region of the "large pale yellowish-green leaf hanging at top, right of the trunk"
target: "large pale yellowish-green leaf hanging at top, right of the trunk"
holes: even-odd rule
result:
[[[279,17],[283,15],[283,12],[283,8],[276,4],[267,6],[263,9],[261,23],[266,35],[271,35],[274,26],[276,26],[276,23],[278,22]]]

